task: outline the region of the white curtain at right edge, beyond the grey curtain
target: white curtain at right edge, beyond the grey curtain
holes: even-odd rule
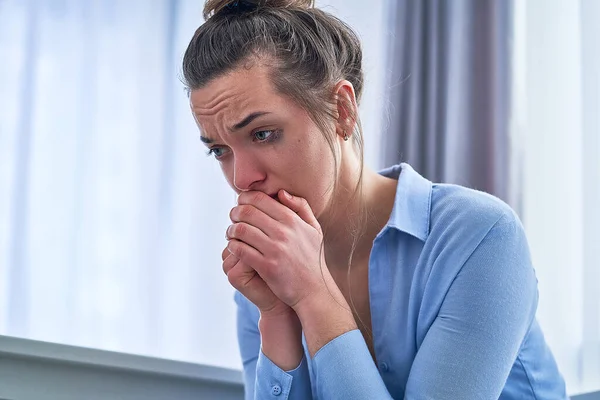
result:
[[[538,318],[569,393],[600,390],[600,2],[515,4],[513,183]]]

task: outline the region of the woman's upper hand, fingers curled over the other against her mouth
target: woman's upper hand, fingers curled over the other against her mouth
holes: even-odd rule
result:
[[[278,198],[280,202],[262,192],[240,194],[230,213],[228,249],[245,265],[240,273],[246,282],[262,278],[256,281],[257,292],[266,293],[266,285],[295,308],[326,291],[325,282],[333,279],[325,265],[321,226],[308,202],[283,190]],[[273,304],[270,297],[265,302]]]

